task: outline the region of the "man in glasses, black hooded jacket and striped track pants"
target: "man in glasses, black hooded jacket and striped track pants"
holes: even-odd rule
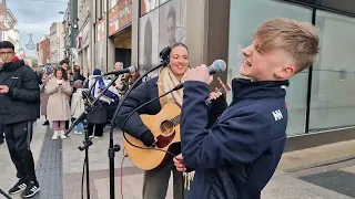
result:
[[[0,70],[0,121],[19,178],[9,193],[23,191],[21,196],[30,198],[40,190],[30,147],[32,125],[40,116],[39,80],[36,72],[16,56],[11,42],[0,42],[0,56],[3,62]]]

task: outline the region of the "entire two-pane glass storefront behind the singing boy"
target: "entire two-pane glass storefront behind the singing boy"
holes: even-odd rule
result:
[[[284,17],[312,22],[311,7],[274,0],[231,0],[229,82],[237,76],[242,49],[265,20]],[[310,132],[355,126],[355,18],[316,11],[321,53],[313,67]],[[287,88],[288,135],[307,132],[308,70],[291,80]],[[231,96],[229,96],[229,101]]]

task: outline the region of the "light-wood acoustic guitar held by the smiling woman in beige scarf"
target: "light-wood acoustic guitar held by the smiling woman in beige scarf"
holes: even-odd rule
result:
[[[220,80],[222,93],[231,91],[231,86],[225,86]],[[156,115],[140,115],[143,124],[152,132],[156,138],[155,148],[169,150],[170,146],[181,142],[180,137],[180,114],[181,108],[174,103],[168,103]],[[141,140],[125,134],[125,138],[135,146],[148,148]],[[123,139],[124,148],[133,165],[142,170],[151,170],[161,165],[169,154],[161,150],[142,149],[132,146]]]

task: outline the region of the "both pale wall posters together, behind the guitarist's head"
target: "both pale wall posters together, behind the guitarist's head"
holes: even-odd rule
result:
[[[162,1],[162,0],[161,0]],[[164,1],[160,8],[140,19],[139,67],[140,73],[160,64],[159,53],[174,43],[186,40],[186,0]],[[152,72],[143,80],[159,75]]]

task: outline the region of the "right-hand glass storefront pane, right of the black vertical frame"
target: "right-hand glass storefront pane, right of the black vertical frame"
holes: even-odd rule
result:
[[[321,53],[313,69],[310,130],[355,125],[355,18],[317,11]]]

